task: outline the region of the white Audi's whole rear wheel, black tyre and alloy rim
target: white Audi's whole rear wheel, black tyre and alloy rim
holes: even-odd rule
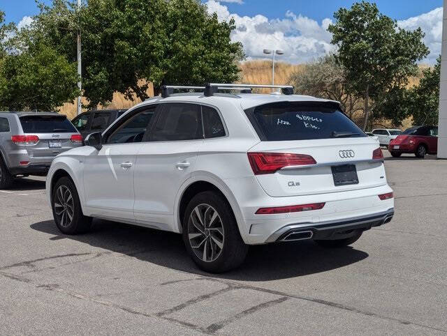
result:
[[[217,192],[200,192],[191,199],[183,217],[186,250],[199,268],[221,273],[240,266],[248,245],[240,236],[230,205]]]

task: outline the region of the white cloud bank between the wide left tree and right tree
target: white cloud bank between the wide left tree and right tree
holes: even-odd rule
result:
[[[249,59],[265,58],[263,49],[268,48],[284,50],[285,54],[279,56],[281,61],[304,63],[335,49],[326,30],[332,23],[328,18],[318,24],[309,17],[291,11],[286,13],[284,19],[268,20],[263,15],[241,17],[230,13],[228,7],[220,2],[208,0],[208,12],[217,13],[221,21],[233,17],[236,29],[231,33],[231,39],[244,45]]]

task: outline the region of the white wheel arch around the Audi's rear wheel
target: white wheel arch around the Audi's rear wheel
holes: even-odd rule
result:
[[[217,176],[212,176],[211,174],[192,176],[183,183],[175,200],[174,229],[179,233],[182,232],[182,220],[186,206],[194,195],[198,194],[198,192],[207,190],[218,192],[226,199],[226,201],[228,201],[228,204],[235,215],[240,234],[244,237],[244,234],[241,231],[241,224],[244,219],[233,192],[231,192],[230,188],[217,178]]]

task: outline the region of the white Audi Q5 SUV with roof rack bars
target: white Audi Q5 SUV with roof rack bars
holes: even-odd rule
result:
[[[217,273],[242,264],[249,245],[344,247],[391,220],[379,144],[339,102],[252,87],[164,86],[59,154],[46,184],[59,230],[79,234],[98,217],[177,232]]]

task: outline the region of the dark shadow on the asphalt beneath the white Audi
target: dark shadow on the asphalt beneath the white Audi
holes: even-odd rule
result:
[[[53,235],[49,239],[57,244],[64,244],[65,239],[76,240],[167,268],[210,275],[193,264],[179,234],[105,220],[94,220],[88,234],[77,236],[61,234],[52,220],[31,224],[31,229]],[[353,247],[326,250],[312,241],[258,245],[250,247],[240,268],[212,276],[227,280],[279,280],[326,272],[367,257],[366,252]]]

